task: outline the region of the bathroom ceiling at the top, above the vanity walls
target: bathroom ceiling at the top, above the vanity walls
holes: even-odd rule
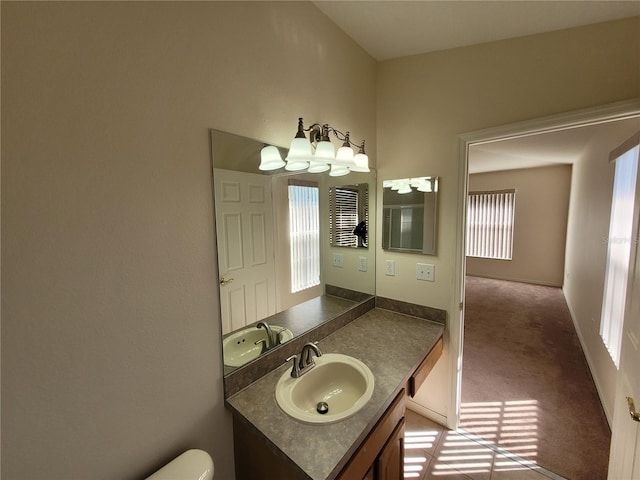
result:
[[[314,1],[376,60],[640,15],[640,1]]]

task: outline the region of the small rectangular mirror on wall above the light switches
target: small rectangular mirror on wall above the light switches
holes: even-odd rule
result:
[[[385,180],[382,186],[382,248],[435,255],[438,177]]]

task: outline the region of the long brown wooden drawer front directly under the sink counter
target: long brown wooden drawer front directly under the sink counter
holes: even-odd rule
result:
[[[339,480],[361,480],[365,478],[396,426],[404,418],[404,412],[405,391],[403,388],[358,451],[353,455],[349,464],[338,477]]]

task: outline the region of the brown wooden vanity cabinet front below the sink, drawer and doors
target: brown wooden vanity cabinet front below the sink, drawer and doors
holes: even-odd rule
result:
[[[338,480],[401,480],[404,464],[404,388],[362,443]]]

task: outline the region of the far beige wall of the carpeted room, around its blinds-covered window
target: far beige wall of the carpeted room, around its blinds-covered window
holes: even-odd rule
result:
[[[469,175],[469,191],[516,189],[513,258],[467,257],[467,275],[562,286],[571,166]]]

